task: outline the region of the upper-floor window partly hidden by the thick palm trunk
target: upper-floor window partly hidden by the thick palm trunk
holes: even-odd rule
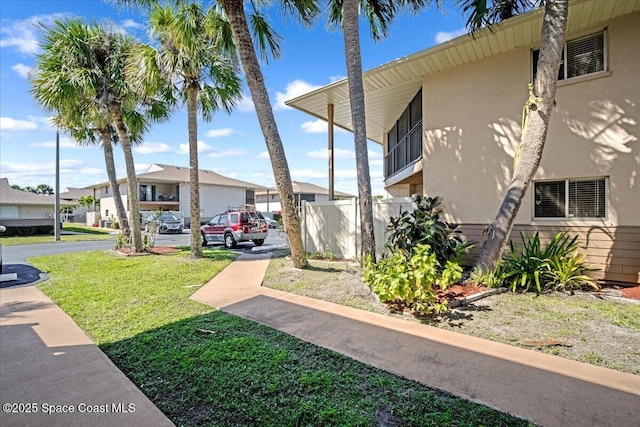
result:
[[[605,31],[569,40],[562,50],[558,80],[593,74],[607,69],[605,59]],[[538,68],[540,50],[533,51],[533,77]]]

